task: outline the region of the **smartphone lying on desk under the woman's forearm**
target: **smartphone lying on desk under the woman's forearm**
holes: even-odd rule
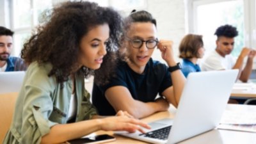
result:
[[[110,141],[115,141],[114,136],[109,136],[108,134],[101,134],[97,136],[90,136],[88,138],[78,138],[75,140],[67,141],[68,144],[97,144],[97,143],[106,143]]]

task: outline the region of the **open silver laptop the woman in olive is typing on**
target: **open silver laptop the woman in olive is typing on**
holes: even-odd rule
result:
[[[214,129],[225,110],[238,70],[195,72],[189,74],[175,118],[150,123],[152,129],[140,132],[116,132],[150,143],[177,143]]]

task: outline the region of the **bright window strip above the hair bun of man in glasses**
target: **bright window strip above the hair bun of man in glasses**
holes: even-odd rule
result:
[[[111,6],[117,10],[127,10],[134,8],[143,8],[145,6],[145,0],[110,0]]]

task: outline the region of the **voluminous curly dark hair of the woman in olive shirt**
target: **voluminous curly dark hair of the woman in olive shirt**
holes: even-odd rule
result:
[[[21,57],[30,64],[51,63],[49,76],[56,76],[58,83],[63,84],[74,68],[77,69],[77,56],[81,38],[95,26],[109,25],[108,52],[98,70],[82,67],[79,74],[88,77],[97,75],[96,83],[108,81],[109,74],[115,68],[116,51],[122,33],[122,17],[118,12],[97,3],[86,1],[67,2],[54,8],[51,19],[36,29],[36,33],[24,44]],[[102,71],[104,70],[104,71]]]

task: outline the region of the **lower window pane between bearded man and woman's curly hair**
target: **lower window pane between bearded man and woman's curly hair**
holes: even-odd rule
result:
[[[20,56],[20,52],[24,45],[24,42],[26,42],[26,40],[28,40],[30,36],[30,32],[15,33],[15,35],[13,36],[13,56]]]

